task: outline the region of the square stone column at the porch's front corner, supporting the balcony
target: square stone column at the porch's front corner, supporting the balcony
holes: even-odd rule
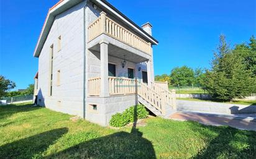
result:
[[[108,41],[101,41],[101,92],[100,97],[109,97],[109,81],[108,81]]]

